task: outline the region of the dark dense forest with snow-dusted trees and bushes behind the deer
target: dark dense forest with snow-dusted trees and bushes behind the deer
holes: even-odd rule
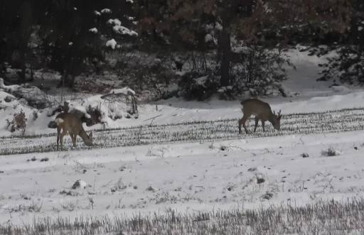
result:
[[[360,0],[3,0],[0,77],[154,99],[235,99],[281,82],[289,48],[324,56],[319,80],[364,82]]]

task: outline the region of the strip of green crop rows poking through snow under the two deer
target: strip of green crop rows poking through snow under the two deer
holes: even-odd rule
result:
[[[237,138],[260,138],[302,134],[339,133],[364,129],[364,108],[340,109],[326,112],[287,114],[282,116],[281,130],[274,131],[267,123],[262,132],[261,123],[253,133],[254,120],[247,122],[249,135],[237,133],[237,119],[195,121],[181,124],[144,125],[124,129],[99,129],[94,132],[95,146],[113,148],[166,143],[211,142]],[[45,153],[55,151],[56,134],[2,138],[0,155]],[[92,149],[77,138],[77,148],[71,148],[69,135],[63,138],[66,151]]]

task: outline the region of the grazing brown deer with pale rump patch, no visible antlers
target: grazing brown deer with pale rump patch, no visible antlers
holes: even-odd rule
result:
[[[63,148],[63,136],[67,133],[70,133],[73,147],[76,147],[77,136],[83,139],[86,146],[93,146],[92,132],[87,136],[86,131],[83,129],[82,121],[75,114],[60,113],[55,117],[55,123],[57,124],[57,151],[59,141],[60,148]],[[62,133],[60,133],[61,130],[63,130]]]

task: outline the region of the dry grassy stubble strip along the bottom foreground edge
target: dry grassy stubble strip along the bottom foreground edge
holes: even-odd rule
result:
[[[75,204],[65,204],[73,211]],[[166,215],[134,217],[80,217],[76,223],[67,218],[34,220],[33,224],[0,225],[0,234],[344,234],[364,226],[364,199],[345,202],[320,201],[293,207],[291,204],[266,209],[235,209],[210,213],[178,214],[168,210]],[[269,218],[269,219],[267,219]],[[153,228],[153,229],[151,229]],[[345,233],[346,234],[346,233]]]

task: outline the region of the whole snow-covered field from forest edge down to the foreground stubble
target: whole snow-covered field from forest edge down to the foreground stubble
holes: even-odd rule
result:
[[[33,124],[23,137],[2,129],[0,223],[299,207],[363,197],[364,92],[313,82],[316,62],[297,55],[298,71],[285,85],[300,96],[264,99],[282,109],[281,131],[266,124],[263,133],[259,123],[257,133],[238,135],[239,102],[176,99],[141,106],[139,119],[94,131],[92,149],[77,138],[72,150],[65,136],[66,151],[56,152],[55,129],[39,126],[49,120]],[[248,126],[252,130],[252,120]]]

